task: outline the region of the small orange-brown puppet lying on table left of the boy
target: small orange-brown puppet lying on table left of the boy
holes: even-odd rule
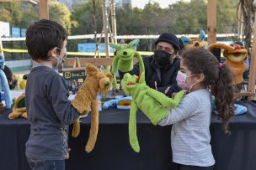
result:
[[[25,94],[19,95],[19,97],[15,100],[13,106],[13,112],[8,115],[9,119],[16,119],[18,117],[28,118],[27,109],[25,105]]]

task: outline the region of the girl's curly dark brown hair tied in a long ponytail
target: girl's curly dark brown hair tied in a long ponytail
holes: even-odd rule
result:
[[[232,72],[226,64],[219,64],[216,57],[206,49],[189,49],[182,55],[184,64],[192,75],[203,74],[203,85],[211,90],[216,99],[216,111],[221,118],[225,133],[228,131],[228,120],[234,114]]]

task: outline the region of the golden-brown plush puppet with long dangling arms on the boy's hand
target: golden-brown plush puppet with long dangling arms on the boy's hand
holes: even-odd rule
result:
[[[100,72],[93,64],[88,64],[86,67],[87,78],[83,85],[78,90],[72,106],[74,106],[79,113],[88,113],[91,110],[91,129],[89,133],[88,142],[86,144],[86,152],[91,152],[95,145],[99,128],[99,109],[97,94],[108,91],[112,84],[112,75],[110,73],[104,74]],[[80,95],[81,94],[81,95]],[[77,137],[80,133],[79,119],[74,121],[72,137]]]

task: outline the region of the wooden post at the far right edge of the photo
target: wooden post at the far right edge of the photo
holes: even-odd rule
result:
[[[255,71],[256,71],[256,19],[254,19],[254,28],[253,28],[253,49],[251,54],[251,64],[250,64],[250,74],[249,74],[249,84],[248,91],[251,95],[248,96],[248,100],[253,100],[255,93]]]

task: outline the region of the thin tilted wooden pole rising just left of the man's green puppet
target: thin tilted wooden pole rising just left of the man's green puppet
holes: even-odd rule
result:
[[[105,49],[106,49],[106,58],[109,58],[108,12],[106,9],[105,0],[102,0],[101,3],[102,3],[102,15],[103,15],[103,23],[104,23],[104,42],[105,42]]]

